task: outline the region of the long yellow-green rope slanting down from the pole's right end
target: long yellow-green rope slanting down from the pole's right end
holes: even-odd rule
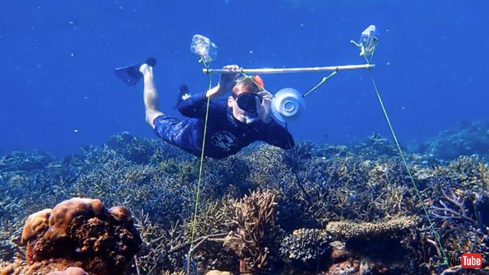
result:
[[[435,229],[435,226],[433,225],[433,222],[430,219],[430,215],[428,214],[428,210],[426,210],[426,206],[425,206],[425,203],[423,201],[423,198],[421,197],[421,194],[419,193],[418,187],[416,186],[416,182],[414,182],[414,177],[413,177],[413,174],[411,173],[411,169],[409,168],[409,165],[407,164],[406,158],[404,157],[404,153],[401,150],[401,146],[399,144],[399,141],[397,141],[397,136],[395,135],[394,128],[391,124],[391,120],[389,119],[389,116],[387,115],[386,107],[384,107],[384,103],[382,102],[382,99],[381,99],[381,96],[379,93],[379,89],[377,89],[377,84],[375,84],[374,76],[372,75],[372,71],[369,70],[369,72],[370,72],[370,79],[372,80],[372,84],[374,84],[375,93],[377,94],[377,99],[379,100],[382,111],[384,112],[384,116],[386,117],[389,129],[391,129],[391,134],[392,134],[393,139],[395,141],[395,145],[397,146],[397,150],[399,151],[399,154],[402,158],[402,162],[404,163],[404,166],[406,166],[407,174],[409,175],[409,179],[411,180],[411,183],[414,186],[414,191],[416,191],[416,196],[418,197],[418,200],[421,203],[421,207],[423,208],[423,211],[425,212],[426,219],[428,220],[428,223],[430,223],[430,228],[431,228],[433,234],[435,234],[435,239],[437,239],[437,244],[439,245],[439,249],[441,250],[441,254],[445,260],[444,265],[448,265],[448,257],[446,256],[445,250],[443,249],[443,245],[441,244],[439,234],[437,233],[437,230]]]

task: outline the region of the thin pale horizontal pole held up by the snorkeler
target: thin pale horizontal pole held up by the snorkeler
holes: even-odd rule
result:
[[[244,74],[291,74],[295,72],[331,72],[337,70],[358,70],[358,69],[370,69],[374,68],[374,64],[363,65],[340,65],[340,66],[328,66],[328,67],[310,67],[310,68],[282,68],[282,69],[202,69],[205,74],[219,73],[219,74],[235,74],[236,72],[242,72]]]

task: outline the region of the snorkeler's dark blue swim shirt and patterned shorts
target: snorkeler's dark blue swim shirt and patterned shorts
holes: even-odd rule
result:
[[[200,156],[206,108],[205,93],[192,95],[178,105],[180,113],[187,118],[159,116],[154,120],[155,132],[169,143]],[[221,159],[235,155],[254,141],[265,141],[283,149],[294,146],[291,134],[275,120],[269,124],[261,120],[250,125],[241,123],[224,102],[210,101],[204,155]]]

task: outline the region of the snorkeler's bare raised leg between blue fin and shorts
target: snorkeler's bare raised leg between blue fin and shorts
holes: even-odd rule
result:
[[[154,118],[161,116],[163,113],[158,110],[158,91],[156,91],[156,85],[153,78],[153,67],[143,64],[139,68],[139,71],[145,78],[145,110],[146,110],[146,123],[154,129]]]

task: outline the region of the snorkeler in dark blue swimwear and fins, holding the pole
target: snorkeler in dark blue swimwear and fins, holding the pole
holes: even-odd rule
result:
[[[224,69],[236,72],[221,74],[219,84],[205,93],[190,95],[187,86],[180,87],[177,109],[186,117],[180,120],[158,109],[158,92],[153,77],[155,64],[154,58],[147,58],[145,62],[117,68],[115,72],[131,86],[140,78],[144,79],[146,122],[164,141],[200,156],[209,98],[205,156],[222,159],[235,155],[254,141],[265,141],[282,149],[294,146],[291,134],[270,116],[273,96],[265,91],[263,80],[258,75],[242,76],[238,65],[227,65]],[[229,91],[231,95],[227,104],[214,100]]]

